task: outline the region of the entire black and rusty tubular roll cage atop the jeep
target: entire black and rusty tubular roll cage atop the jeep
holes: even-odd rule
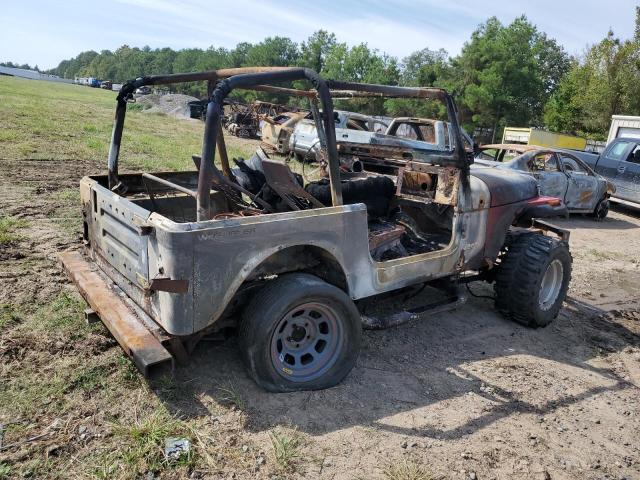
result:
[[[313,85],[312,90],[298,90],[274,86],[274,83],[307,80]],[[215,147],[218,142],[221,151],[221,160],[226,160],[226,150],[220,127],[223,102],[227,96],[237,88],[283,93],[294,96],[317,98],[322,109],[322,123],[326,137],[326,152],[329,166],[329,181],[331,188],[331,200],[334,206],[342,205],[342,187],[340,183],[340,161],[336,145],[335,129],[333,124],[333,99],[354,97],[396,97],[396,98],[432,98],[444,102],[447,114],[451,120],[455,148],[453,155],[446,158],[450,164],[454,164],[463,170],[467,170],[469,163],[464,152],[462,135],[457,122],[457,110],[451,96],[439,88],[412,88],[390,85],[374,85],[353,82],[341,82],[335,80],[325,81],[317,72],[308,68],[291,67],[246,67],[230,68],[223,70],[210,70],[195,73],[175,73],[169,75],[156,75],[141,77],[125,83],[117,97],[117,106],[111,145],[108,159],[109,188],[113,191],[121,191],[123,185],[118,179],[118,158],[122,141],[122,130],[126,115],[127,101],[133,96],[135,90],[147,85],[168,85],[183,82],[209,82],[209,103],[207,105],[207,117],[205,120],[204,138],[202,143],[202,161],[198,177],[198,189],[196,193],[197,219],[198,221],[210,218],[210,190],[212,182],[229,184],[230,179],[225,177],[215,166]],[[215,87],[214,87],[215,86]],[[222,148],[220,148],[222,147]],[[226,161],[228,163],[228,161]],[[228,165],[227,165],[228,168]]]

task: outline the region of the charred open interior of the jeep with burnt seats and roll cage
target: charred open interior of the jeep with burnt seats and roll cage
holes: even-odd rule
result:
[[[367,208],[369,250],[376,261],[432,252],[449,244],[461,179],[458,156],[462,155],[462,148],[455,136],[446,146],[445,142],[438,145],[435,138],[416,140],[373,132],[366,132],[368,136],[358,140],[342,141],[335,138],[329,123],[333,118],[333,98],[362,101],[362,97],[382,96],[440,102],[443,104],[440,111],[445,112],[447,122],[447,115],[450,121],[455,107],[446,103],[447,97],[439,90],[383,86],[369,86],[376,87],[369,91],[350,90],[355,84],[327,82],[327,86],[303,69],[249,73],[228,79],[217,73],[219,78],[215,81],[209,78],[211,98],[203,152],[193,156],[193,171],[118,175],[117,129],[122,125],[117,112],[109,176],[94,178],[145,210],[178,223],[362,203]],[[308,98],[320,141],[313,175],[294,173],[288,157],[275,158],[272,154],[271,158],[262,148],[251,158],[229,162],[220,130],[221,105],[233,88],[268,89],[262,82],[268,82],[269,75],[275,76],[271,79],[274,83],[306,78],[315,87],[315,90],[269,87]],[[244,78],[235,85],[230,82],[238,77],[256,78]],[[149,79],[139,79],[134,86],[144,81],[149,83]],[[123,91],[119,107],[128,100],[128,90]],[[448,123],[444,124],[446,127]],[[221,171],[214,163],[215,148]]]

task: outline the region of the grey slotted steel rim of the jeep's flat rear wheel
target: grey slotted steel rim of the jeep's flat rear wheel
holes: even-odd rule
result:
[[[289,310],[271,337],[271,363],[282,377],[309,382],[322,376],[338,358],[343,330],[335,310],[308,302]]]

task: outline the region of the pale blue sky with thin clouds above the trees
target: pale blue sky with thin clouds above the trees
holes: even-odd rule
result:
[[[57,66],[85,50],[121,45],[233,48],[269,36],[296,42],[328,30],[399,59],[422,48],[459,53],[490,16],[525,14],[579,55],[611,28],[633,35],[635,0],[0,0],[0,61]]]

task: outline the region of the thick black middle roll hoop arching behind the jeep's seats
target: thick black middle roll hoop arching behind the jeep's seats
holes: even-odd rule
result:
[[[197,220],[209,220],[210,190],[212,180],[221,175],[214,164],[215,140],[220,128],[220,117],[225,98],[234,88],[251,88],[262,84],[291,82],[294,80],[309,80],[317,91],[322,106],[322,117],[327,141],[327,157],[329,163],[329,182],[331,188],[331,200],[334,206],[342,205],[342,187],[340,184],[340,163],[336,147],[335,130],[333,122],[333,100],[326,82],[315,71],[308,68],[294,68],[281,71],[264,73],[249,73],[235,75],[221,80],[211,94],[207,105],[207,118],[204,127],[204,139],[202,143],[202,162],[198,177]]]

